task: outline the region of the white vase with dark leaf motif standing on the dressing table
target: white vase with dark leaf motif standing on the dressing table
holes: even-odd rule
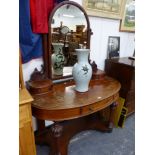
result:
[[[75,49],[78,62],[73,66],[72,74],[75,81],[75,90],[86,92],[92,77],[92,67],[88,62],[89,49]]]

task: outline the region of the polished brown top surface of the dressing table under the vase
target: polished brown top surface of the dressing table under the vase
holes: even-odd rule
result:
[[[75,91],[72,82],[57,84],[53,93],[35,99],[32,106],[39,109],[58,110],[81,107],[106,99],[120,89],[120,83],[110,77],[104,80],[92,80],[89,90],[84,93]]]

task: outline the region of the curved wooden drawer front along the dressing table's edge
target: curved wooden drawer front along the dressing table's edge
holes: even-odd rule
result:
[[[69,108],[69,109],[60,109],[60,110],[45,110],[42,111],[40,109],[35,109],[32,107],[33,115],[37,116],[39,119],[46,119],[46,120],[52,120],[52,121],[64,121],[64,120],[70,120],[75,119],[83,116],[87,116],[89,114],[95,113],[97,111],[100,111],[108,106],[110,106],[113,102],[116,102],[119,98],[119,93],[116,93],[115,95],[98,101],[96,103],[82,106],[82,107],[76,107],[76,108]]]

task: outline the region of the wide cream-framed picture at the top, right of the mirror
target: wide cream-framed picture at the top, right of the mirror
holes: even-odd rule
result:
[[[83,0],[88,15],[121,19],[125,0]]]

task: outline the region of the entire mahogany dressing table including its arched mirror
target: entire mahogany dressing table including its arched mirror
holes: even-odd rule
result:
[[[70,14],[74,18],[71,16],[64,18],[63,14]],[[60,21],[61,24],[52,21]],[[68,23],[70,24],[67,25]],[[82,27],[85,29],[82,29],[81,33],[84,33],[85,37],[79,39],[80,35],[78,35],[80,40],[78,44],[90,48],[92,32],[85,10],[79,4],[71,1],[58,4],[50,14],[49,33],[43,36],[44,68],[41,72],[35,70],[27,87],[34,98],[32,114],[37,118],[38,126],[35,133],[36,143],[48,145],[50,155],[67,155],[69,141],[75,134],[90,129],[103,132],[112,131],[114,109],[117,106],[121,85],[111,77],[102,76],[101,71],[96,71],[96,78],[93,76],[91,79],[89,90],[80,93],[74,89],[75,83],[71,72],[73,66],[64,66],[62,75],[54,75],[51,56],[52,43],[56,40],[54,40],[55,36],[52,32],[57,28],[57,24],[67,26],[71,30],[70,32],[76,31],[75,28],[78,25],[84,25]],[[60,29],[61,27],[58,28],[58,34],[62,33],[59,31]],[[70,67],[69,70],[67,67]],[[110,117],[108,121],[104,122],[101,111],[108,106],[110,107]],[[54,123],[45,127],[45,120]]]

